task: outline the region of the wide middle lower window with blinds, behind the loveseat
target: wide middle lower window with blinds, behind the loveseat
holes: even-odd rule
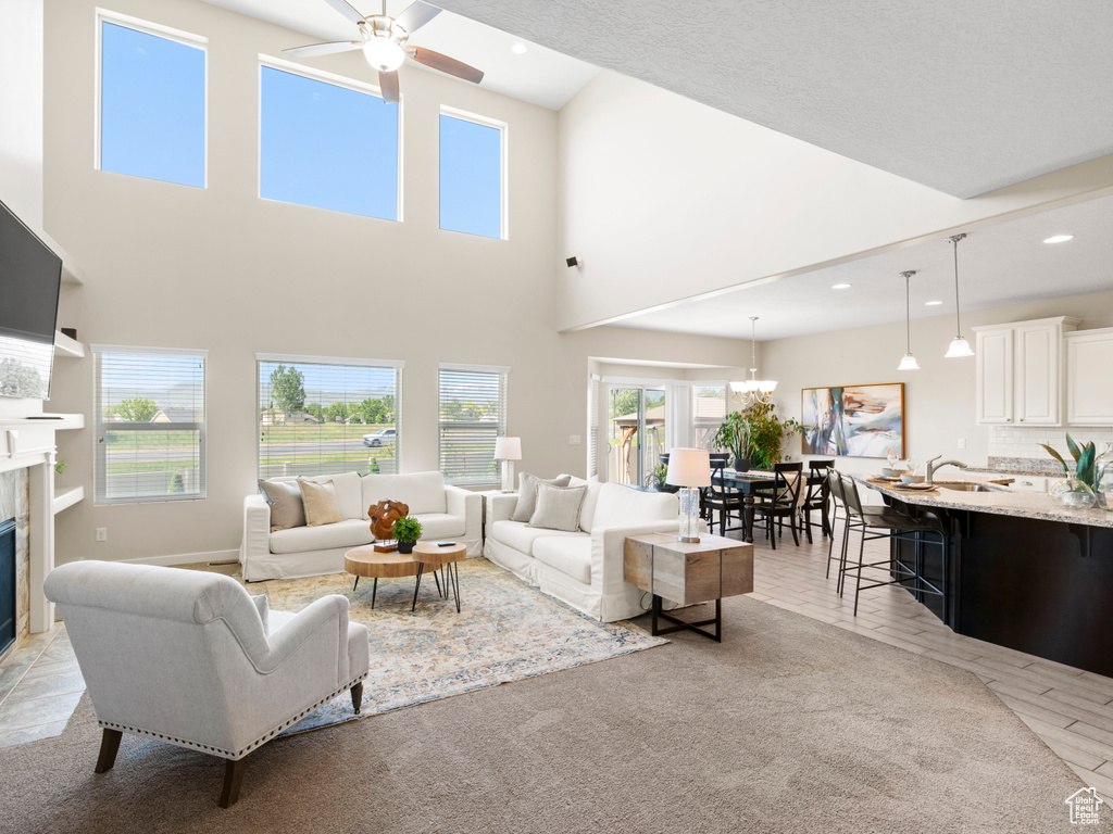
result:
[[[257,354],[259,477],[398,471],[403,363]]]

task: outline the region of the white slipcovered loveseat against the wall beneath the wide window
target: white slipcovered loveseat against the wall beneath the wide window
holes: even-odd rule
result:
[[[466,545],[469,556],[481,555],[482,496],[445,484],[439,471],[363,476],[353,471],[306,480],[332,481],[344,520],[272,533],[266,499],[258,494],[247,496],[239,549],[247,582],[342,573],[344,553],[374,540],[368,507],[386,499],[408,505],[410,515],[421,522],[423,539],[451,539]]]

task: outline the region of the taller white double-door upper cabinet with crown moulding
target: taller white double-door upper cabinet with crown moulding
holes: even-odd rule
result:
[[[978,424],[1058,426],[1063,421],[1063,336],[1068,316],[975,327]]]

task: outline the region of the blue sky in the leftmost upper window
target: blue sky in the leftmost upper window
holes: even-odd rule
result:
[[[205,50],[101,21],[100,167],[205,187]]]

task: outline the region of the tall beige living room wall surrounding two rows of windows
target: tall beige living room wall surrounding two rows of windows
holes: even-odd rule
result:
[[[199,347],[208,358],[208,498],[97,507],[58,517],[58,560],[149,558],[237,548],[255,492],[255,354],[403,359],[404,470],[437,466],[437,364],[506,365],[520,469],[582,474],[589,356],[735,365],[728,339],[554,328],[554,112],[417,69],[402,70],[404,217],[393,224],[256,197],[256,59],[312,40],[195,0],[108,8],[209,38],[209,187],[92,168],[92,0],[47,9],[46,214],[82,265],[73,305],[87,342]],[[308,62],[307,62],[308,63]],[[353,78],[358,53],[313,66]],[[509,123],[510,239],[437,228],[442,103]],[[354,160],[353,176],[372,159]],[[52,410],[92,407],[92,360],[56,376]],[[92,495],[91,428],[68,433],[60,479]],[[93,529],[108,528],[95,544]]]

